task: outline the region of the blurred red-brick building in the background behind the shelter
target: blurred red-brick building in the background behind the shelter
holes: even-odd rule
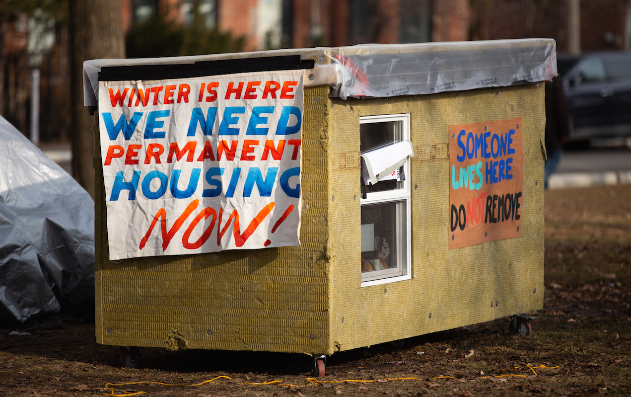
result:
[[[362,43],[551,37],[559,52],[629,50],[631,0],[121,0],[126,32],[160,12],[191,21],[197,6],[208,28],[244,37],[244,50]],[[62,3],[60,3],[62,4]],[[0,6],[0,11],[2,8]],[[4,13],[6,15],[6,13]],[[28,16],[0,18],[0,114],[28,135]],[[57,21],[55,44],[40,64],[40,139],[69,136],[68,27]]]

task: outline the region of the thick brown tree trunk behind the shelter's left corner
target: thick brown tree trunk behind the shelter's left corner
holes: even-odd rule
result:
[[[83,106],[83,61],[124,58],[121,0],[70,0],[73,176],[94,198],[95,117]]]

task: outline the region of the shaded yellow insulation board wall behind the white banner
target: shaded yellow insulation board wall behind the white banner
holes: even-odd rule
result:
[[[97,151],[98,343],[171,350],[331,350],[328,93],[324,86],[305,90],[300,247],[109,261]]]

